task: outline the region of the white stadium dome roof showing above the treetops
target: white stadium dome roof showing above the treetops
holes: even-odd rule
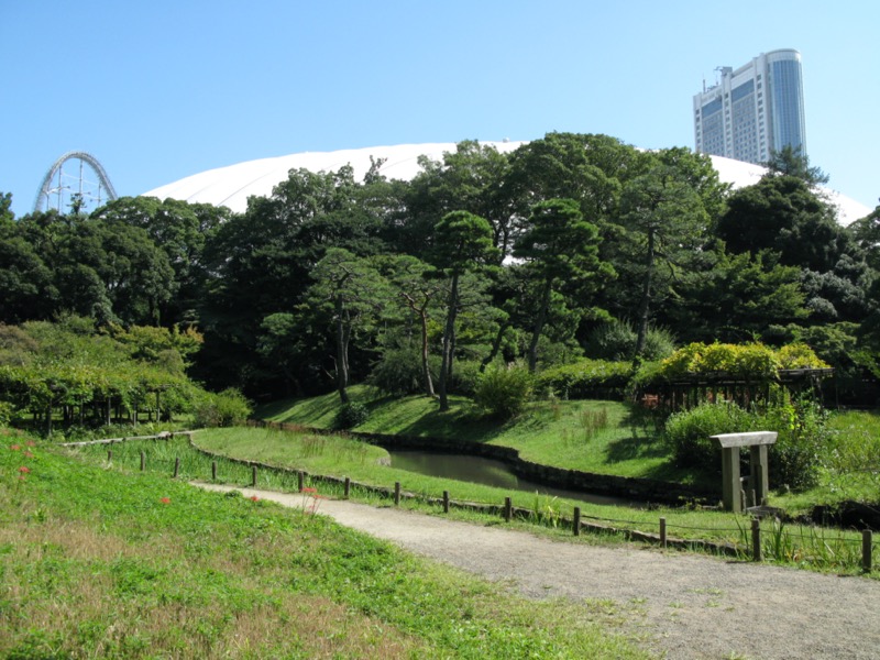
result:
[[[525,142],[481,142],[484,146],[494,146],[499,153],[515,151]],[[370,146],[332,152],[305,152],[246,161],[228,167],[208,169],[160,186],[143,194],[144,197],[160,199],[180,199],[189,202],[204,202],[213,206],[226,206],[232,211],[242,213],[248,208],[251,196],[268,197],[272,189],[287,178],[290,169],[309,169],[311,172],[337,172],[340,167],[351,165],[355,180],[362,180],[369,172],[372,161],[384,158],[380,173],[389,179],[409,180],[419,173],[419,156],[432,161],[442,161],[444,152],[454,152],[455,143],[441,142],[429,144],[398,144],[395,146]],[[758,183],[767,172],[760,165],[734,161],[722,156],[711,156],[722,182],[740,188]],[[864,218],[871,209],[862,204],[823,188],[828,199],[838,209],[840,224],[849,224]]]

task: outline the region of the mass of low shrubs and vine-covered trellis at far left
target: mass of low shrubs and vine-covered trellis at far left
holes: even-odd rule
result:
[[[241,393],[210,394],[187,377],[201,341],[193,329],[98,330],[81,317],[0,324],[0,416],[46,435],[193,413],[205,426],[243,421]]]

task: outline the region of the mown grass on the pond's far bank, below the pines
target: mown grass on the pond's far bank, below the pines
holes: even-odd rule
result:
[[[452,398],[452,410],[441,414],[424,396],[382,398],[363,386],[352,398],[370,409],[367,421],[354,430],[426,438],[457,438],[475,443],[510,447],[528,461],[565,470],[653,479],[718,490],[718,474],[680,469],[661,441],[651,414],[620,402],[536,402],[518,419],[503,424],[482,416],[465,398]],[[257,410],[273,421],[332,428],[339,396],[277,402]],[[771,504],[792,515],[816,505],[846,501],[880,502],[880,415],[833,413],[828,419],[832,447],[815,487],[800,493],[774,491]],[[770,460],[773,460],[772,450]],[[771,483],[771,488],[773,484]]]

